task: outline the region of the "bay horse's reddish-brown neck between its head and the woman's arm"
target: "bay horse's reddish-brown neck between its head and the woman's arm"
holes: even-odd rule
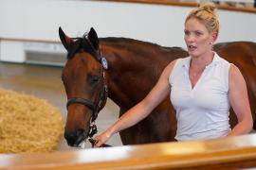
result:
[[[172,60],[166,53],[160,53],[158,45],[131,43],[101,40],[101,53],[109,64],[106,72],[109,97],[119,107],[127,109],[150,92],[164,67]]]

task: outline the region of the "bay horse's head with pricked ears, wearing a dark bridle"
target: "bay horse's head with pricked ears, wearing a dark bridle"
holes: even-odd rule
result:
[[[78,146],[97,130],[93,123],[107,98],[104,82],[107,64],[101,57],[98,36],[93,28],[82,38],[69,38],[60,27],[59,35],[67,50],[62,75],[67,96],[64,138],[67,144]]]

